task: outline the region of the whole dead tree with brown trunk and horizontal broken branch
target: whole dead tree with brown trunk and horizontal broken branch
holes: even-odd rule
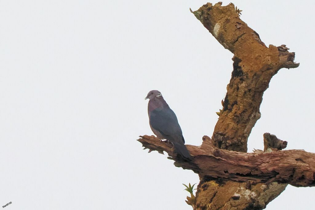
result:
[[[263,135],[264,151],[247,152],[247,139],[260,118],[262,95],[281,68],[296,68],[295,53],[285,45],[267,47],[253,29],[239,18],[232,3],[207,3],[191,11],[224,48],[234,56],[233,71],[212,138],[201,146],[186,145],[192,160],[183,161],[172,145],[153,136],[140,136],[143,147],[167,152],[175,166],[200,177],[195,210],[264,209],[285,187],[315,185],[315,153],[282,150],[287,142]]]

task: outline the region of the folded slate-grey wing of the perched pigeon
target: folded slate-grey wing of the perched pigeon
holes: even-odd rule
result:
[[[155,130],[166,136],[173,138],[176,136],[182,137],[182,140],[185,143],[177,117],[170,108],[153,110],[150,115],[150,123]]]

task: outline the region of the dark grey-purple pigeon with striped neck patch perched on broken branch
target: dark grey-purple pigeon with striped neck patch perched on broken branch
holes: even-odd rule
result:
[[[151,90],[145,100],[149,99],[148,115],[151,130],[157,138],[166,139],[173,144],[175,152],[185,159],[191,159],[191,156],[185,146],[185,139],[178,124],[177,117],[173,110],[163,99],[158,90]]]

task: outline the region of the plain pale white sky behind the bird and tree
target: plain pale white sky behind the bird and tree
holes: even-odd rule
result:
[[[182,183],[198,175],[136,139],[152,134],[151,89],[175,111],[186,143],[211,137],[232,53],[189,12],[204,3],[0,1],[0,207],[192,209]],[[270,132],[287,149],[315,152],[315,3],[233,3],[266,45],[286,44],[301,63],[272,78],[249,151]],[[312,209],[314,192],[288,186],[267,209]]]

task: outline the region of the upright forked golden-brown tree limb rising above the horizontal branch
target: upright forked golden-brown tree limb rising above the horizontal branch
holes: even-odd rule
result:
[[[191,11],[203,26],[234,54],[233,72],[223,111],[212,139],[218,148],[246,152],[247,139],[260,118],[262,95],[281,68],[296,68],[294,52],[285,45],[275,47],[261,41],[256,31],[243,22],[234,4],[207,3]]]

